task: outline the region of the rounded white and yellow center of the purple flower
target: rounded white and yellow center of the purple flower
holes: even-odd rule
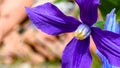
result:
[[[86,24],[80,24],[74,32],[75,37],[78,40],[83,40],[91,34],[90,28]]]

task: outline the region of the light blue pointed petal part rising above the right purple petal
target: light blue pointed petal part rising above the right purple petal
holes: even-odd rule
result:
[[[105,30],[120,34],[120,26],[116,21],[115,9],[113,9],[106,18]]]

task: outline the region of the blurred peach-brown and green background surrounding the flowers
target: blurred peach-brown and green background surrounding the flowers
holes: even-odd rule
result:
[[[61,68],[62,51],[73,33],[47,35],[31,23],[25,11],[25,6],[35,7],[46,2],[79,19],[80,11],[74,0],[0,0],[0,68]],[[95,26],[103,29],[106,14],[113,8],[119,22],[120,0],[101,0]],[[94,46],[91,53],[92,68],[101,68]]]

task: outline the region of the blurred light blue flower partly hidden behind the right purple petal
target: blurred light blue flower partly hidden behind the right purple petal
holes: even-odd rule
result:
[[[116,21],[115,8],[107,15],[104,29],[120,34],[120,25]],[[103,64],[102,68],[120,68],[120,67],[111,65],[108,62],[108,59],[104,55],[102,55],[102,53],[100,53],[98,50],[96,51],[96,53],[102,60],[102,64]]]

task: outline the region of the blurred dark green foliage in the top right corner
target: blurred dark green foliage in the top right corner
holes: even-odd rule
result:
[[[100,10],[105,20],[106,15],[116,8],[117,20],[120,21],[120,0],[101,0]]]

